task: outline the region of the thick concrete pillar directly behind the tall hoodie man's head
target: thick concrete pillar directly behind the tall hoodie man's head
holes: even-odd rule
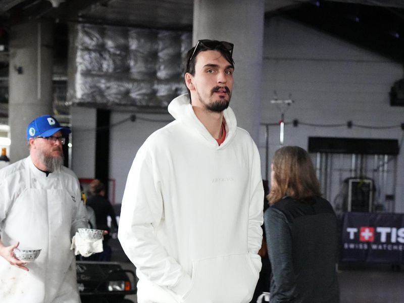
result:
[[[193,45],[199,39],[234,44],[230,107],[238,126],[258,142],[262,91],[264,0],[194,0]]]

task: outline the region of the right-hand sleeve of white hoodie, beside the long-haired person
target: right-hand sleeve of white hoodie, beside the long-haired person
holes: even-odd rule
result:
[[[254,143],[253,143],[254,144]],[[254,153],[251,169],[251,194],[248,212],[248,251],[257,271],[261,270],[261,257],[258,251],[262,245],[264,187],[261,176],[261,162],[258,148],[254,144]]]

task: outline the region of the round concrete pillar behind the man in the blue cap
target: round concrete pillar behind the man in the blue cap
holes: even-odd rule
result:
[[[25,130],[40,115],[52,114],[54,24],[29,21],[10,29],[10,161],[28,156]]]

